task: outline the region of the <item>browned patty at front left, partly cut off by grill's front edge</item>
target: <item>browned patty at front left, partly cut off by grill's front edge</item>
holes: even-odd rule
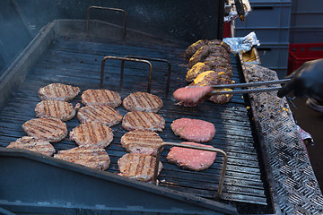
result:
[[[23,136],[15,142],[11,142],[6,148],[31,150],[48,156],[52,156],[55,153],[54,146],[47,140],[31,136]]]

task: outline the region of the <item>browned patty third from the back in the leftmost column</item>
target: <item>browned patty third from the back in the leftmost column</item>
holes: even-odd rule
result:
[[[25,133],[32,137],[39,137],[48,142],[59,142],[67,135],[66,124],[53,117],[34,118],[22,125]]]

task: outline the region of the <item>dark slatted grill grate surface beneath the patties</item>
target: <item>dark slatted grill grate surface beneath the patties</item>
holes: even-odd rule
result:
[[[10,142],[25,135],[22,124],[35,117],[34,108],[39,102],[38,90],[52,82],[63,82],[78,86],[81,90],[99,89],[100,61],[104,56],[138,55],[162,58],[170,61],[172,74],[170,92],[186,85],[184,80],[185,64],[179,57],[183,49],[174,47],[140,47],[137,44],[102,43],[96,40],[82,38],[61,37],[56,39],[37,64],[28,73],[25,82],[19,90],[13,92],[0,113],[0,146],[6,147]],[[234,76],[232,80],[239,81],[236,60],[232,56]],[[152,62],[153,78],[152,93],[160,96],[164,107],[159,112],[165,121],[166,128],[160,133],[165,142],[183,142],[170,130],[173,120],[180,117],[199,118],[214,123],[216,133],[214,140],[208,142],[228,154],[228,165],[223,185],[223,200],[249,202],[261,205],[267,204],[267,197],[262,181],[262,174],[258,163],[258,152],[252,135],[249,116],[243,98],[235,95],[231,102],[225,105],[216,105],[205,101],[198,107],[175,106],[171,95],[165,95],[167,82],[167,65]],[[125,63],[123,87],[118,87],[119,61],[107,61],[105,65],[104,88],[116,90],[124,99],[134,91],[147,89],[147,69],[137,63]],[[81,102],[81,96],[72,103]],[[127,110],[117,108],[120,114],[126,115]],[[68,131],[79,125],[76,117],[66,122]],[[114,140],[107,147],[111,164],[109,172],[118,173],[118,159],[126,153],[120,145],[121,136],[126,133],[121,125],[112,127]],[[56,150],[66,150],[77,145],[67,139],[53,143]],[[193,193],[205,198],[214,198],[217,191],[223,158],[219,155],[211,168],[201,172],[179,169],[166,160],[168,150],[162,151],[161,161],[163,168],[158,177],[161,186],[168,186],[185,193]]]

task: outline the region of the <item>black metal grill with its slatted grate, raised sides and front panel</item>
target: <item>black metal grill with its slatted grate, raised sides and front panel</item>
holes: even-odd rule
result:
[[[234,95],[225,105],[205,101],[195,108],[176,106],[168,91],[186,85],[184,77],[187,70],[182,66],[186,62],[180,55],[188,44],[151,37],[136,30],[127,30],[126,39],[123,39],[120,37],[123,28],[107,22],[91,21],[89,31],[86,29],[84,21],[56,20],[49,23],[1,80],[0,205],[4,211],[77,214],[108,211],[110,214],[282,212],[282,202],[279,202],[273,182],[275,177],[266,162],[266,151],[258,148],[259,136],[256,133],[261,128],[250,121],[252,116],[246,108],[249,105],[247,98]],[[108,57],[109,61],[104,62],[101,76],[101,63],[105,56],[115,57]],[[140,62],[120,63],[119,57],[129,56],[131,59],[140,56],[138,59],[167,60],[171,64],[171,73],[168,73],[168,66],[159,61],[150,63],[151,72]],[[234,67],[232,80],[242,82],[246,75],[242,73],[240,56],[231,55],[231,61]],[[220,154],[211,168],[192,172],[168,163],[165,157],[169,148],[166,147],[161,153],[163,168],[158,176],[159,185],[118,176],[117,161],[126,153],[119,143],[126,133],[121,125],[112,127],[115,136],[107,148],[111,159],[107,171],[84,168],[23,150],[4,149],[24,135],[22,124],[35,117],[39,88],[52,82],[72,84],[81,90],[100,87],[116,90],[122,98],[131,92],[149,89],[164,101],[159,114],[166,121],[166,128],[160,133],[165,142],[182,142],[170,130],[171,122],[177,118],[191,117],[214,123],[216,134],[209,144],[228,155],[221,198],[216,197],[223,163]],[[151,87],[148,87],[150,83]],[[165,90],[165,86],[169,88]],[[80,101],[78,96],[72,102],[75,105]],[[127,110],[123,107],[117,109],[126,115]],[[79,122],[75,117],[66,124],[70,131]],[[53,145],[56,150],[77,146],[67,139]],[[315,180],[311,185],[315,187]],[[319,197],[317,202],[321,200]],[[290,208],[287,210],[291,211]]]

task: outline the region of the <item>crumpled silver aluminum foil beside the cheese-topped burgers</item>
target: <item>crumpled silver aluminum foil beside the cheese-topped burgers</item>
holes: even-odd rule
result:
[[[242,38],[225,38],[223,41],[231,47],[231,52],[235,53],[245,53],[251,50],[251,47],[260,46],[260,42],[254,31]]]

